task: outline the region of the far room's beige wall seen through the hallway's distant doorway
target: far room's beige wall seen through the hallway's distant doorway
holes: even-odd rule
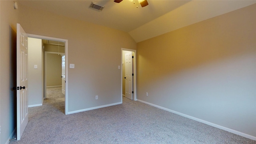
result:
[[[46,86],[62,85],[62,56],[46,53]]]

